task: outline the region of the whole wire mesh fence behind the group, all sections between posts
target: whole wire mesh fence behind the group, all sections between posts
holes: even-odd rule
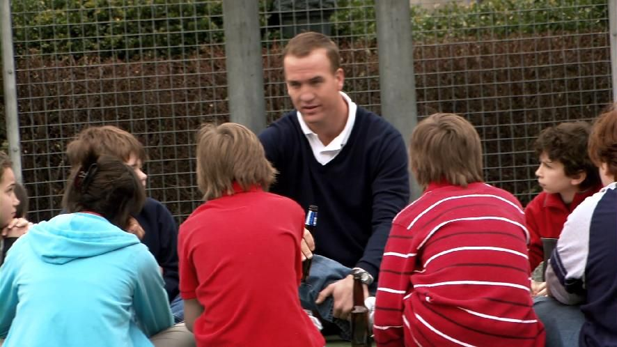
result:
[[[268,123],[292,109],[280,52],[303,30],[340,45],[345,91],[380,112],[374,0],[258,1]],[[483,139],[487,181],[526,203],[538,192],[530,151],[538,132],[591,120],[611,102],[608,1],[410,6],[419,118],[466,116]],[[196,129],[229,118],[222,1],[20,0],[12,18],[30,218],[58,213],[65,146],[101,124],[146,145],[148,194],[180,219],[189,215],[201,203]]]

